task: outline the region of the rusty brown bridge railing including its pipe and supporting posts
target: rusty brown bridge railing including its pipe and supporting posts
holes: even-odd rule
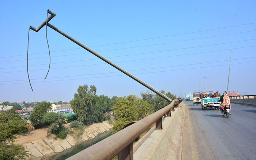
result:
[[[171,111],[178,107],[182,99],[173,100],[166,107],[142,120],[126,125],[121,131],[76,153],[67,160],[111,160],[116,155],[118,155],[118,160],[133,160],[133,142],[139,140],[139,136],[154,123],[156,130],[162,130],[162,117],[165,114],[171,117]]]

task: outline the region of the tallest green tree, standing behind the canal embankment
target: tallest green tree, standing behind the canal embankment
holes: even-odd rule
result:
[[[74,99],[70,101],[73,111],[76,113],[77,120],[83,124],[93,122],[92,107],[95,105],[95,97],[97,88],[91,85],[80,85],[77,89],[78,93],[74,94]]]

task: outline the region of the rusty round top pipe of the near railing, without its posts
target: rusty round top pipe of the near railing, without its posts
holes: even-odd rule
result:
[[[125,148],[130,146],[135,139],[137,139],[146,129],[148,129],[157,120],[162,118],[174,105],[178,103],[175,99],[166,107],[151,115],[143,118],[142,120],[125,127],[121,131],[107,137],[106,139],[92,145],[89,148],[69,157],[67,160],[110,160],[118,155]],[[125,156],[124,156],[125,157]]]

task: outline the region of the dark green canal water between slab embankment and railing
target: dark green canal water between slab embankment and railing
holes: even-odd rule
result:
[[[71,157],[71,156],[75,155],[76,153],[83,151],[84,149],[90,147],[91,145],[94,145],[95,143],[98,143],[99,141],[101,141],[109,136],[110,136],[110,131],[103,133],[102,135],[96,136],[94,139],[87,140],[79,145],[69,148],[53,157],[50,157],[48,160],[65,160],[68,157]]]

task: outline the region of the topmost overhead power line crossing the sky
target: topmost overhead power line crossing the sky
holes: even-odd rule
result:
[[[238,26],[242,26],[242,25],[250,25],[250,24],[255,24],[255,23],[256,23],[256,22],[253,22],[253,23],[246,23],[246,24],[239,24],[239,25],[232,25],[232,26],[228,26],[228,27],[220,27],[220,28],[206,29],[206,30],[195,31],[195,32],[180,33],[180,34],[175,34],[175,35],[168,35],[168,36],[153,37],[153,38],[147,38],[147,39],[139,39],[139,40],[132,40],[132,41],[123,41],[123,42],[118,42],[118,43],[110,43],[110,44],[94,45],[94,46],[91,46],[91,48],[92,48],[92,47],[106,46],[106,45],[114,45],[114,44],[129,43],[129,42],[135,42],[135,41],[143,41],[143,40],[150,40],[150,39],[158,39],[158,38],[171,37],[171,36],[186,35],[186,34],[191,34],[191,33],[199,33],[199,32],[206,32],[206,31],[213,31],[213,30],[217,30],[217,29],[224,29],[224,28],[238,27]],[[63,49],[63,50],[59,50],[59,51],[51,51],[51,52],[69,51],[69,50],[74,50],[74,49],[81,49],[81,48]],[[31,53],[30,55],[42,54],[42,53],[48,53],[48,52]],[[16,56],[24,56],[24,55],[5,56],[5,57],[0,57],[0,58],[16,57]]]

